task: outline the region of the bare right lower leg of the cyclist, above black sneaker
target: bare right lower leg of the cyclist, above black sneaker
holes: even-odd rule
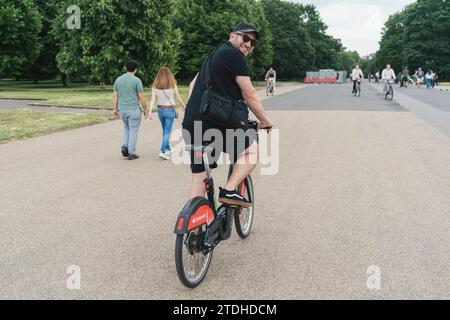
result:
[[[246,149],[233,167],[233,173],[228,179],[225,189],[228,191],[235,190],[241,182],[256,168],[258,163],[258,144],[254,142]]]

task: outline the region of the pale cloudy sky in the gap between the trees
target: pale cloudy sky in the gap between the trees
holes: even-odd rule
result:
[[[416,0],[290,0],[314,4],[327,33],[341,39],[347,50],[356,50],[361,56],[375,53],[381,40],[384,23],[391,14],[402,10]]]

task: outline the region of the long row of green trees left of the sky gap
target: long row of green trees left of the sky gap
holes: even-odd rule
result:
[[[425,0],[424,0],[425,1]],[[165,65],[192,79],[204,58],[239,22],[261,39],[247,59],[253,79],[273,65],[281,79],[305,71],[347,68],[355,59],[327,32],[314,5],[281,0],[79,0],[79,28],[69,28],[70,0],[2,0],[0,77],[49,79],[61,75],[112,83],[127,60],[152,82]],[[74,22],[72,21],[72,22]]]

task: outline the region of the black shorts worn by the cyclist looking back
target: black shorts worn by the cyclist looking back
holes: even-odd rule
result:
[[[242,152],[258,141],[256,130],[247,127],[243,129],[220,129],[207,121],[197,121],[196,125],[197,127],[183,126],[183,140],[186,145],[191,144],[196,147],[211,145],[214,147],[210,168],[217,166],[216,161],[222,152],[228,154],[231,163],[235,163]],[[190,158],[192,173],[205,172],[202,157],[192,151]]]

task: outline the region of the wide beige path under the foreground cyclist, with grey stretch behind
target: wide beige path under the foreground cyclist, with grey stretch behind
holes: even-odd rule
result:
[[[279,171],[255,170],[251,235],[233,231],[195,290],[174,264],[189,168],[157,157],[159,121],[143,123],[132,162],[120,121],[0,145],[0,298],[449,299],[449,137],[375,89],[349,89],[265,101]],[[80,290],[67,287],[71,265]]]

